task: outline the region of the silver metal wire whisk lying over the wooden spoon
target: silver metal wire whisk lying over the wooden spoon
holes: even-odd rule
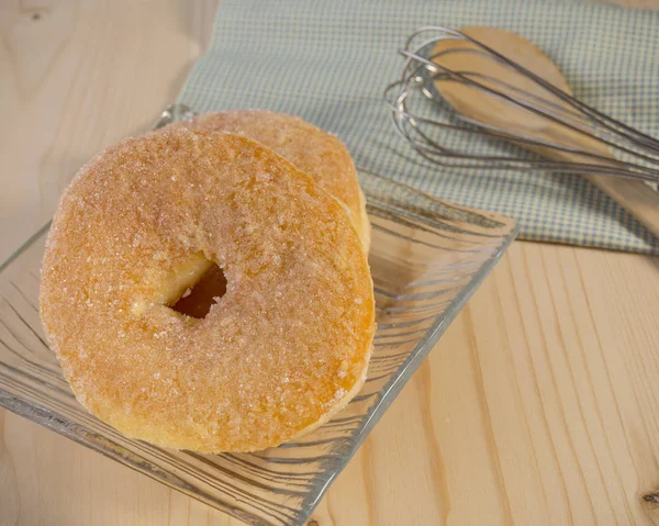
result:
[[[465,41],[470,46],[435,52],[436,44],[445,40]],[[422,27],[410,36],[401,54],[405,58],[401,78],[387,87],[384,100],[398,134],[434,164],[468,169],[571,172],[659,181],[659,141],[585,104],[469,35],[444,26]],[[515,75],[524,76],[546,96],[478,71],[456,70],[438,64],[449,54],[470,54],[493,60]],[[436,86],[443,81],[459,82],[493,100],[523,109],[529,115],[546,119],[566,132],[605,146],[616,157],[471,119],[458,112],[443,96]],[[423,100],[418,101],[420,98]],[[466,146],[456,147],[453,145],[456,137],[487,139],[466,141]],[[563,159],[551,160],[511,146],[511,143],[554,150],[563,154]]]

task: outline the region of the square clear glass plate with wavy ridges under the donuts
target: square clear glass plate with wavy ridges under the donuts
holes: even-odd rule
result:
[[[38,316],[48,225],[0,267],[0,405],[247,523],[303,524],[515,235],[507,217],[359,177],[373,227],[375,351],[361,392],[313,434],[255,454],[199,455],[127,439],[90,415]]]

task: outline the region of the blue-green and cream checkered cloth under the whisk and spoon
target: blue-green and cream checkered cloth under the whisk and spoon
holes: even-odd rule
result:
[[[511,215],[526,239],[659,254],[659,240],[579,177],[422,163],[393,132],[382,91],[400,76],[398,49],[428,24],[518,33],[554,58],[577,97],[659,135],[659,12],[567,0],[221,0],[179,101],[301,115],[337,134],[358,167]]]

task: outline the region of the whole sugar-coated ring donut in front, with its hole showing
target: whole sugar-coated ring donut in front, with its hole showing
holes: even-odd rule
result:
[[[210,268],[203,317],[172,307]],[[372,281],[344,206],[244,136],[185,127],[101,153],[62,197],[41,316],[78,401],[124,435],[254,451],[361,387]]]

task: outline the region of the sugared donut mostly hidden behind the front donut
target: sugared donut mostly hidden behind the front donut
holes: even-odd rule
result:
[[[370,223],[355,164],[345,145],[299,116],[259,110],[201,113],[170,126],[245,135],[273,149],[344,203],[368,251]]]

